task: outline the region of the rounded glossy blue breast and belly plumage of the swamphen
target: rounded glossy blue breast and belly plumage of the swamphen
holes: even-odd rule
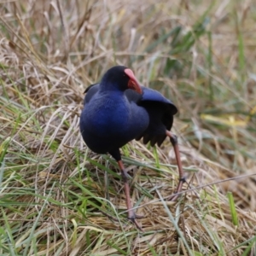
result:
[[[142,134],[148,122],[147,111],[135,102],[128,102],[122,91],[101,93],[97,90],[90,101],[85,97],[80,130],[92,151],[114,154],[116,158],[119,148]]]

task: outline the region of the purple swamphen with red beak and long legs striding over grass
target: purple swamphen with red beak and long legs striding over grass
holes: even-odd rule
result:
[[[177,137],[170,131],[175,105],[160,92],[139,84],[131,69],[112,67],[104,74],[99,84],[92,84],[85,90],[84,109],[80,116],[80,131],[86,145],[98,154],[111,154],[118,162],[125,183],[128,218],[137,223],[138,216],[132,209],[128,174],[121,160],[119,148],[133,139],[143,137],[143,143],[158,146],[170,137],[174,147],[179,183],[176,193],[185,182],[177,146]],[[171,200],[176,200],[172,195]]]

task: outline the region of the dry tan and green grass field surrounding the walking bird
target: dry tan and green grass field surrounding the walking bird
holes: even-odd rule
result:
[[[0,255],[256,255],[255,23],[253,0],[2,1]],[[79,133],[114,65],[179,110],[176,202],[172,144],[122,148],[143,232]]]

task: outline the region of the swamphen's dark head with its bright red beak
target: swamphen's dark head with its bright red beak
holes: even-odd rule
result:
[[[108,69],[101,82],[104,90],[136,90],[142,94],[142,88],[130,68],[124,66],[115,66]]]

